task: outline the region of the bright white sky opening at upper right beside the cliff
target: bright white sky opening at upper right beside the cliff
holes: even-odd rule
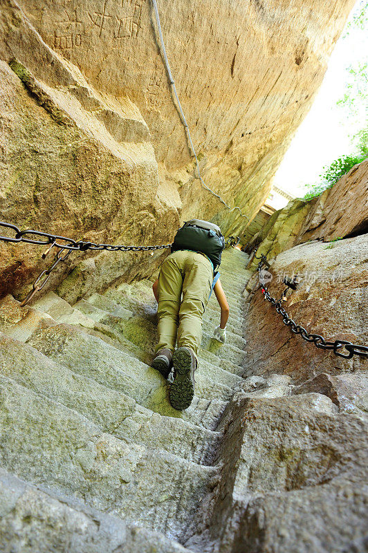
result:
[[[354,12],[360,10],[362,1],[356,3],[349,21]],[[351,28],[348,34],[346,30],[342,32],[315,102],[275,175],[275,186],[302,197],[307,191],[305,185],[321,182],[320,174],[325,166],[355,151],[351,135],[362,129],[364,121],[349,118],[347,109],[338,106],[337,102],[344,96],[347,68],[367,61],[367,53],[367,30]]]

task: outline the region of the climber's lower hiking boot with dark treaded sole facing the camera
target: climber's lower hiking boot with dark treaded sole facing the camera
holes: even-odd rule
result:
[[[178,348],[172,356],[174,382],[169,391],[170,403],[174,409],[183,411],[192,403],[194,397],[194,371],[196,356],[190,348]]]

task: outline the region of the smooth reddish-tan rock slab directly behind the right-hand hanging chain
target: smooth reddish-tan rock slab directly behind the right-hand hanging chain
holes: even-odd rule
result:
[[[282,283],[284,277],[298,275],[300,284],[297,290],[288,292],[283,307],[308,332],[329,341],[343,339],[353,344],[367,344],[367,236],[331,244],[315,241],[295,246],[275,258],[270,274],[268,291],[276,299],[286,288]],[[289,374],[296,383],[318,373],[336,375],[364,368],[363,359],[336,357],[293,334],[260,290],[248,299],[249,375]]]

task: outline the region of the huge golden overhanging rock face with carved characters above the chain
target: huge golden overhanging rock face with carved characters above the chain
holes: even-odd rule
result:
[[[352,6],[353,0],[158,6],[205,181],[250,218]],[[245,219],[229,215],[193,180],[148,0],[5,0],[0,15],[3,218],[115,243],[170,241],[179,218],[192,216],[212,218],[229,234],[243,229]],[[32,78],[9,70],[13,57]],[[5,268],[21,263],[20,281],[29,281],[38,252],[6,252]],[[99,259],[101,275],[109,262]],[[149,272],[141,257],[124,259],[112,264],[115,278]],[[111,277],[98,277],[98,286],[104,280]]]

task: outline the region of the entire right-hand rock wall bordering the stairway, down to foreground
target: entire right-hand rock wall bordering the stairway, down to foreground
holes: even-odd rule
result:
[[[270,261],[268,292],[279,300],[287,289],[282,307],[295,325],[318,346],[341,340],[337,352],[345,358],[292,332],[253,274],[243,291],[248,378],[245,394],[235,395],[241,422],[228,415],[239,457],[232,461],[226,450],[223,486],[232,483],[212,498],[214,523],[203,528],[207,538],[221,536],[221,552],[367,548],[367,357],[347,359],[343,345],[361,353],[359,346],[368,346],[366,189],[364,162],[319,198],[293,201],[261,230],[257,258]],[[253,257],[248,270],[257,263]],[[291,291],[283,281],[296,275]],[[221,525],[222,534],[214,530]]]

